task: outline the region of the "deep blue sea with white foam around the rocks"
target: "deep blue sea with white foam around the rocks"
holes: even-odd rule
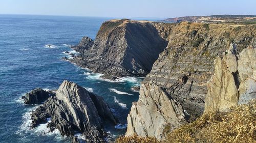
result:
[[[111,18],[0,15],[0,142],[70,142],[46,124],[30,130],[30,113],[38,105],[24,105],[20,97],[35,88],[57,89],[63,80],[78,83],[102,96],[121,125],[139,93],[131,90],[142,78],[105,81],[100,74],[79,68],[64,52],[72,51],[83,36],[95,39],[101,23]],[[113,136],[126,128],[105,127]]]

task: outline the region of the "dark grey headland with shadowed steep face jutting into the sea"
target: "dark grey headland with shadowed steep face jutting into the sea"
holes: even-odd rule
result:
[[[110,20],[102,23],[94,42],[84,37],[73,47],[81,54],[71,62],[118,77],[145,76],[166,45],[151,22]]]

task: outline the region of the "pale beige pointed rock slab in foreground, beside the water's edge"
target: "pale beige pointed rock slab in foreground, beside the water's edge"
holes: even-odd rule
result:
[[[126,135],[136,133],[158,139],[186,123],[180,103],[153,82],[142,84],[139,101],[133,102],[127,122]]]

